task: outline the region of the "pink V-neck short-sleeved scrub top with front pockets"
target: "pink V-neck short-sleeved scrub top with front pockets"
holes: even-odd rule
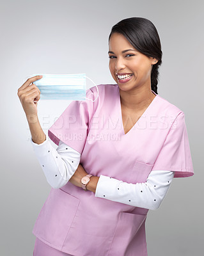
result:
[[[99,97],[74,100],[48,131],[81,154],[86,172],[123,182],[146,182],[152,170],[194,174],[184,113],[159,95],[125,134],[118,84],[98,85]],[[97,88],[86,91],[97,98]],[[167,180],[168,182],[168,180]],[[98,198],[68,182],[51,189],[33,234],[77,256],[146,256],[148,209]]]

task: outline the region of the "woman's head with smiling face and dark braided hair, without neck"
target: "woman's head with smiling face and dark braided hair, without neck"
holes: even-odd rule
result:
[[[116,83],[131,80],[136,87],[143,86],[146,82],[146,89],[151,88],[157,93],[162,51],[159,34],[150,20],[129,18],[114,25],[109,35],[108,53],[109,69]],[[132,74],[132,77],[125,81],[124,76],[127,74]]]

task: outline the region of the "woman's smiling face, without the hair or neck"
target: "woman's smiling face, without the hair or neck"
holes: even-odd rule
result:
[[[108,54],[109,70],[120,88],[151,88],[151,70],[152,65],[156,63],[155,59],[138,52],[120,33],[111,35]],[[127,76],[124,77],[125,74]]]

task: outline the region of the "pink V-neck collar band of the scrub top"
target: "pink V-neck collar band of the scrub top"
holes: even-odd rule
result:
[[[152,90],[153,92],[153,90]],[[139,119],[137,120],[137,122],[132,126],[132,128],[127,132],[125,133],[125,129],[123,127],[123,117],[122,117],[122,107],[121,107],[121,102],[120,102],[120,87],[118,86],[118,108],[119,108],[119,112],[120,112],[120,120],[122,122],[122,136],[127,136],[130,134],[130,132],[136,128],[136,125],[138,124],[139,120],[141,119],[141,117],[144,117],[144,115],[146,115],[149,111],[149,109],[151,108],[153,102],[155,102],[155,100],[157,100],[158,98],[158,95],[153,92],[153,94],[155,94],[156,96],[153,98],[152,102],[150,102],[149,106],[145,109],[145,111],[143,112],[143,115],[141,115],[139,117]]]

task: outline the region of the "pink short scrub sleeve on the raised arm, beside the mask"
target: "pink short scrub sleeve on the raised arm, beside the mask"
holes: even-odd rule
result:
[[[73,100],[61,116],[48,130],[48,136],[59,145],[59,140],[82,153],[86,143],[88,127],[94,113],[96,98],[93,90],[86,90],[86,97],[91,100]]]

